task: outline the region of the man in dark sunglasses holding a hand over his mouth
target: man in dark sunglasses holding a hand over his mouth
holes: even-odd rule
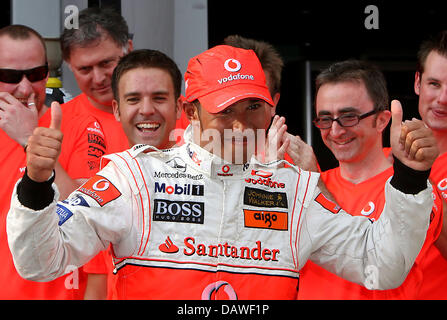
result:
[[[44,104],[48,63],[44,40],[26,26],[0,29],[0,48],[0,299],[72,299],[78,291],[65,285],[68,278],[26,281],[17,273],[9,251],[6,215],[16,180],[25,171],[24,148],[48,109]],[[56,183],[64,190],[68,176],[61,166],[55,169]]]

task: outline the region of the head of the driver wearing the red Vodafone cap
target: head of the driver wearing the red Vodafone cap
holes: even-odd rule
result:
[[[200,124],[193,126],[197,144],[229,163],[246,163],[265,145],[275,104],[263,70],[254,67],[259,62],[253,51],[240,55],[239,61],[224,59],[232,56],[233,47],[219,48],[190,60],[185,112],[190,121]],[[222,59],[223,65],[217,65]],[[238,82],[236,90],[233,84]]]

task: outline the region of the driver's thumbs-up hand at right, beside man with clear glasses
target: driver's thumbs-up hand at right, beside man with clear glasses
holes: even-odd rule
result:
[[[402,106],[391,102],[390,142],[393,155],[407,167],[425,171],[439,155],[436,139],[424,122],[413,118],[402,122]]]

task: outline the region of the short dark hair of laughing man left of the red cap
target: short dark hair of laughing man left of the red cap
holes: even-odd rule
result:
[[[127,71],[136,68],[158,68],[165,70],[172,78],[175,99],[177,100],[180,97],[183,77],[174,60],[157,50],[140,49],[123,56],[115,70],[113,70],[112,90],[115,100],[119,101],[118,84],[121,77]]]

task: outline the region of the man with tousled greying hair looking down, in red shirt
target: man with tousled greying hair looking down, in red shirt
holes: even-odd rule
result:
[[[61,130],[66,138],[59,160],[67,164],[68,173],[78,182],[70,192],[99,170],[99,161],[104,154],[129,148],[123,128],[113,114],[111,83],[119,59],[132,49],[127,22],[112,8],[80,11],[79,28],[65,28],[61,34],[62,58],[82,91],[62,105]],[[50,112],[43,118],[48,126]],[[87,131],[82,131],[85,126],[88,126]],[[74,156],[81,152],[91,158],[83,166]],[[97,261],[102,265],[102,259],[98,258],[84,267],[89,273],[86,297],[100,298],[96,290],[91,289],[93,282],[90,280],[96,273],[104,272],[96,265]],[[97,282],[102,286],[103,281]]]

